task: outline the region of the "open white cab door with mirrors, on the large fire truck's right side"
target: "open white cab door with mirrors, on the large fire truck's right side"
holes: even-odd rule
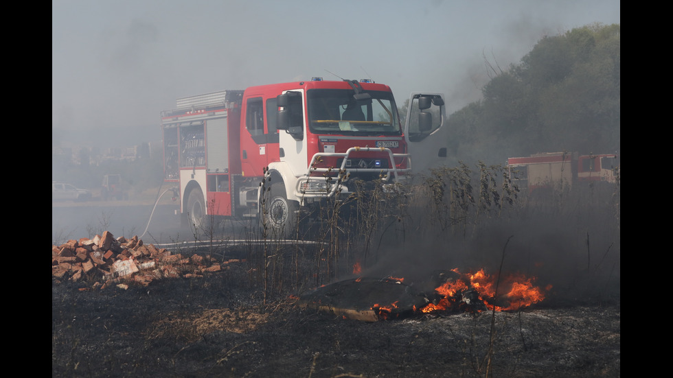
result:
[[[411,154],[413,174],[446,165],[448,127],[444,94],[411,93],[404,139]]]

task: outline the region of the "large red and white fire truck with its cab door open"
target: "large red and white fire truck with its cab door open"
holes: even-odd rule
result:
[[[251,86],[177,99],[161,112],[165,181],[183,220],[255,218],[288,232],[302,213],[350,195],[350,180],[391,185],[446,160],[441,93],[411,93],[402,123],[372,80]],[[336,196],[336,198],[335,198]]]

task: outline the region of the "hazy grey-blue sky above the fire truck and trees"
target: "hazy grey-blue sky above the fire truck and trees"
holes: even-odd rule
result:
[[[481,97],[485,59],[505,68],[596,22],[620,23],[619,0],[52,0],[52,141],[129,126],[158,140],[178,97],[312,76],[372,78],[398,105],[442,92],[452,112]]]

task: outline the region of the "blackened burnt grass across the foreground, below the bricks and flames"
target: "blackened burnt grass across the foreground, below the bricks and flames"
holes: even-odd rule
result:
[[[52,376],[620,376],[618,282],[600,296],[581,282],[521,311],[362,322],[289,295],[265,305],[248,272],[104,290],[52,282]]]

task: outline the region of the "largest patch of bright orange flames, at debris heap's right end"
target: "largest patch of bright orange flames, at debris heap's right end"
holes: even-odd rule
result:
[[[440,300],[422,307],[421,312],[452,309],[463,301],[462,294],[470,289],[477,292],[479,300],[487,309],[512,311],[544,300],[544,291],[551,289],[551,285],[548,285],[545,290],[534,286],[535,277],[526,277],[523,274],[511,274],[498,279],[497,276],[486,274],[483,269],[473,274],[461,274],[457,269],[453,272],[460,274],[460,278],[447,281],[437,287],[435,292],[440,295]]]

